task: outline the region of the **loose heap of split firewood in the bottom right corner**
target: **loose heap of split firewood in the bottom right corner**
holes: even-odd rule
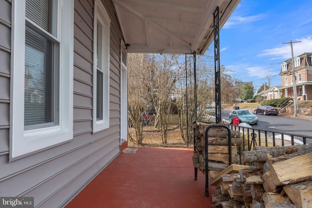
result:
[[[255,147],[242,152],[242,162],[252,166],[213,180],[215,207],[312,208],[312,144]]]

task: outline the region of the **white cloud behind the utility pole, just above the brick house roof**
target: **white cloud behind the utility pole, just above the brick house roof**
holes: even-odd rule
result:
[[[312,52],[312,39],[311,37],[301,38],[293,40],[292,42],[301,41],[292,44],[293,56],[298,56],[304,52]],[[289,42],[289,41],[288,41]],[[291,47],[290,44],[282,44],[280,47],[275,47],[272,49],[267,49],[262,51],[258,57],[270,56],[273,59],[289,59],[291,58]]]

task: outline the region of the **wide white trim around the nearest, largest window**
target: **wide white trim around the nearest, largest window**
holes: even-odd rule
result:
[[[25,0],[12,1],[10,161],[73,139],[74,0],[62,0],[59,125],[24,131]]]

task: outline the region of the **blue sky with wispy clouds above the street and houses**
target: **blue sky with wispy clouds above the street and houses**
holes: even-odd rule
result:
[[[231,76],[253,81],[257,90],[272,77],[272,85],[281,84],[281,63],[312,52],[311,0],[241,0],[220,31],[220,64]],[[213,44],[210,49],[213,51]]]

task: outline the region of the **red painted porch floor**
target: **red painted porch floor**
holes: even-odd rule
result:
[[[212,208],[215,187],[206,197],[204,174],[194,180],[192,156],[192,148],[122,152],[66,208]]]

